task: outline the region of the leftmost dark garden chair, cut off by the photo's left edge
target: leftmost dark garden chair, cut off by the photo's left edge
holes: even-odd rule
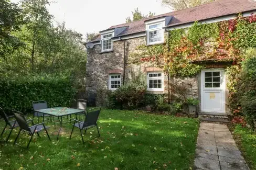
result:
[[[10,134],[12,133],[13,129],[19,127],[19,124],[17,123],[16,120],[9,120],[9,118],[13,118],[14,116],[7,117],[7,115],[5,114],[4,110],[1,107],[0,107],[0,115],[5,121],[5,127],[4,127],[4,129],[1,133],[1,137],[4,134],[4,131],[7,128],[7,126],[9,126],[9,129],[10,129],[10,133],[9,133],[7,139],[6,139],[6,142],[8,142],[8,140],[10,138]],[[30,120],[27,120],[27,121],[30,121],[32,124],[34,124],[33,120],[34,119],[30,119]]]

